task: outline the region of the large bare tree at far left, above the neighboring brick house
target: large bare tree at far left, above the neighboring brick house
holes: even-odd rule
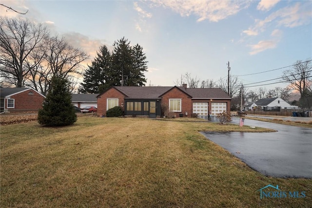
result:
[[[17,87],[26,84],[29,71],[40,60],[32,56],[38,55],[48,36],[49,30],[42,24],[0,17],[0,72],[4,81]]]

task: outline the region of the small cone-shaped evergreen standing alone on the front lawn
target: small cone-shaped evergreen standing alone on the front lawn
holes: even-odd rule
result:
[[[43,108],[38,112],[39,124],[63,126],[72,125],[77,121],[69,84],[65,78],[56,76],[52,78],[51,88],[43,102]]]

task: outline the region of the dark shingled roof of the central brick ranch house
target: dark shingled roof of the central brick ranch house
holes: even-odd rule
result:
[[[221,88],[185,88],[180,86],[113,86],[113,88],[128,99],[160,99],[163,94],[173,88],[181,90],[193,99],[231,99]]]

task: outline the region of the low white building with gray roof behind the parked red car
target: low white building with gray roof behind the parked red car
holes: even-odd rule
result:
[[[98,107],[97,96],[99,94],[72,94],[72,103],[79,108],[86,106]]]

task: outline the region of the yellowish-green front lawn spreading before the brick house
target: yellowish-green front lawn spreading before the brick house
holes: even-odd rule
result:
[[[205,122],[78,117],[0,127],[0,207],[309,207],[312,180],[266,177],[198,131],[270,131]],[[267,185],[305,198],[264,198]],[[274,191],[274,189],[270,189]]]

